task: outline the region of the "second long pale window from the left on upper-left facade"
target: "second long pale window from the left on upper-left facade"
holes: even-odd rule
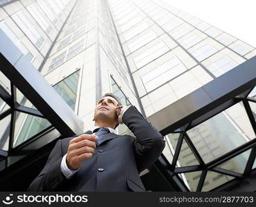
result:
[[[44,43],[44,38],[39,34],[39,32],[37,32],[35,27],[28,21],[24,14],[22,14],[22,12],[18,12],[13,14],[12,18],[24,34],[26,34],[28,39],[30,39],[30,41],[32,41],[32,43],[37,47],[37,49],[40,49]]]

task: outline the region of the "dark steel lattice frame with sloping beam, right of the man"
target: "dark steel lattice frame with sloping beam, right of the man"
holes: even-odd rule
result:
[[[256,103],[256,99],[254,97],[248,97],[255,85],[256,57],[253,57],[252,59],[249,59],[245,63],[242,63],[229,72],[226,72],[226,74],[222,75],[221,77],[214,79],[202,88],[195,90],[194,92],[190,93],[190,95],[187,95],[179,101],[172,103],[170,106],[163,108],[163,110],[156,112],[156,114],[148,118],[149,121],[151,121],[154,126],[156,126],[156,128],[161,129],[162,135],[179,133],[179,139],[176,144],[172,164],[170,164],[167,159],[165,159],[163,154],[161,155],[161,159],[166,163],[163,164],[162,161],[162,166],[160,168],[162,168],[162,171],[164,169],[165,171],[169,172],[169,180],[174,176],[179,177],[178,175],[180,173],[200,170],[202,173],[196,191],[201,191],[205,177],[209,170],[221,173],[223,175],[235,177],[235,180],[228,181],[228,183],[221,186],[221,189],[223,190],[224,185],[230,187],[230,184],[234,185],[251,175],[256,156],[256,138],[246,142],[241,146],[238,146],[233,150],[230,150],[229,152],[226,152],[224,155],[221,155],[216,159],[209,161],[208,163],[205,163],[199,151],[196,150],[196,147],[190,139],[187,131],[194,128],[195,126],[198,126],[203,121],[214,117],[223,110],[230,108],[236,103],[241,102],[244,105],[246,115],[248,116],[250,125],[252,126],[256,135],[256,116],[255,112],[253,112],[249,104]],[[194,157],[196,157],[196,160],[199,162],[199,165],[176,167],[183,140],[185,140],[188,144]],[[241,155],[241,153],[250,149],[250,156],[246,163],[244,173],[241,174],[218,167],[225,161],[228,161],[237,155]],[[161,162],[158,162],[157,164],[158,168],[160,163]],[[181,184],[183,184],[183,189],[186,190],[182,190],[181,188],[179,190],[189,191],[182,179],[180,181]],[[218,186],[217,188],[212,189],[212,191],[217,191],[219,189],[220,188]]]

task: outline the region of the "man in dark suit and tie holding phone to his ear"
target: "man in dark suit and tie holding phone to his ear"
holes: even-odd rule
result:
[[[29,191],[145,191],[139,173],[161,155],[163,136],[111,93],[96,103],[93,121],[93,129],[57,141]],[[117,135],[118,124],[135,137]]]

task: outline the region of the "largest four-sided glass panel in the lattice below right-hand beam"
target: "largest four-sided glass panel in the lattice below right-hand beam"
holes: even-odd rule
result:
[[[188,130],[190,139],[205,162],[212,161],[249,140],[237,126],[239,117],[235,121],[226,112],[221,112]]]

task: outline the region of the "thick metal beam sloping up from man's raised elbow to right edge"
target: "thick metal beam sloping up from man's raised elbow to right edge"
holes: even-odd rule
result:
[[[221,105],[227,107],[226,102],[255,87],[255,84],[256,57],[253,57],[147,119],[161,131],[162,135],[166,135],[202,116],[203,119],[209,119],[212,114],[209,113],[209,116],[205,114],[212,110],[215,110],[215,114],[221,112],[223,110]],[[219,110],[216,110],[218,107]]]

